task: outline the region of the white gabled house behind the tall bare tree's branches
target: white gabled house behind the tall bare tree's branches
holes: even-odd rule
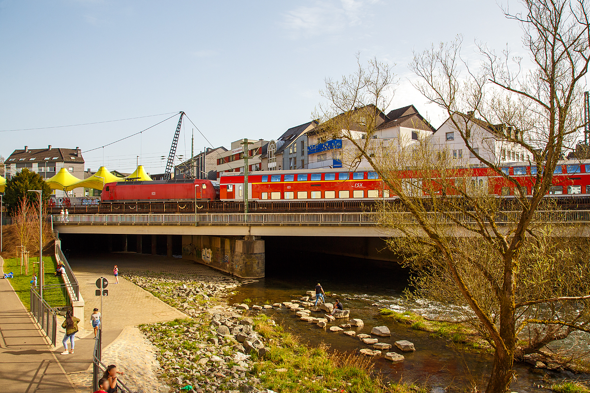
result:
[[[496,163],[511,163],[530,160],[530,153],[520,144],[510,140],[523,140],[523,134],[514,127],[487,123],[474,117],[472,112],[456,114],[454,119],[462,130],[470,130],[469,144],[481,157]],[[471,165],[481,161],[471,153],[460,132],[448,118],[432,135],[435,150],[447,150],[451,157],[466,161]]]

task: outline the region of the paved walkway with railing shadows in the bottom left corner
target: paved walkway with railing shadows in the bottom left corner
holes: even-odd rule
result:
[[[1,391],[78,392],[37,325],[32,322],[9,280],[0,279],[0,293]]]

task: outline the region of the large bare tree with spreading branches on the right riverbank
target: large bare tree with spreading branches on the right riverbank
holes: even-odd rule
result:
[[[565,213],[543,198],[563,148],[573,144],[583,125],[590,21],[584,1],[523,0],[522,5],[523,14],[505,14],[522,25],[530,70],[509,51],[497,55],[484,45],[483,65],[474,70],[461,61],[460,38],[415,54],[411,64],[418,75],[415,87],[444,109],[486,178],[497,180],[474,183],[467,163],[435,149],[431,140],[408,143],[400,137],[395,146],[379,146],[372,136],[393,81],[391,68],[377,61],[366,69],[359,65],[340,82],[326,80],[322,93],[329,104],[320,107],[319,129],[326,138],[348,141],[356,157],[351,163],[366,161],[398,198],[398,205],[383,204],[382,222],[396,235],[389,240],[392,249],[407,253],[417,288],[467,306],[472,325],[493,346],[486,391],[497,393],[509,388],[515,358],[572,331],[590,331],[586,247],[566,234],[569,227],[555,223],[565,220]],[[526,151],[536,168],[528,185],[502,170],[496,143],[487,152],[476,147],[481,127],[494,140]],[[513,212],[501,212],[504,198],[490,194],[494,181],[512,190]]]

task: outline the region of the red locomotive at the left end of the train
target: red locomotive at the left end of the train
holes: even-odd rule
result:
[[[116,181],[104,184],[102,202],[168,202],[219,199],[217,182],[201,179]]]

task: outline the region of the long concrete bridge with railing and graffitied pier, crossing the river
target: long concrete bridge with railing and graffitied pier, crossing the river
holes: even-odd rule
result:
[[[508,227],[517,221],[519,214],[497,212],[496,224]],[[590,236],[590,210],[536,214],[541,222],[563,224],[556,236]],[[474,236],[473,232],[455,223],[476,224],[468,214],[431,212],[428,215],[431,220],[448,224],[449,233],[453,236]],[[133,248],[129,247],[129,243],[135,237],[136,252],[143,251],[146,240],[150,243],[151,252],[156,254],[158,236],[166,236],[168,256],[173,255],[176,239],[176,243],[181,243],[176,247],[176,253],[182,249],[185,259],[205,263],[241,278],[260,278],[264,276],[264,239],[273,237],[325,239],[323,242],[307,240],[307,244],[315,244],[318,252],[396,260],[398,257],[393,253],[383,251],[386,247],[382,238],[404,235],[398,230],[383,227],[382,218],[382,214],[376,212],[129,213],[70,214],[68,217],[53,214],[51,222],[60,234],[107,236],[109,250],[113,250],[113,236],[120,237],[121,251]],[[417,225],[411,213],[395,213],[394,219],[408,226]],[[145,239],[146,235],[148,239]],[[360,244],[363,247],[358,246]]]

